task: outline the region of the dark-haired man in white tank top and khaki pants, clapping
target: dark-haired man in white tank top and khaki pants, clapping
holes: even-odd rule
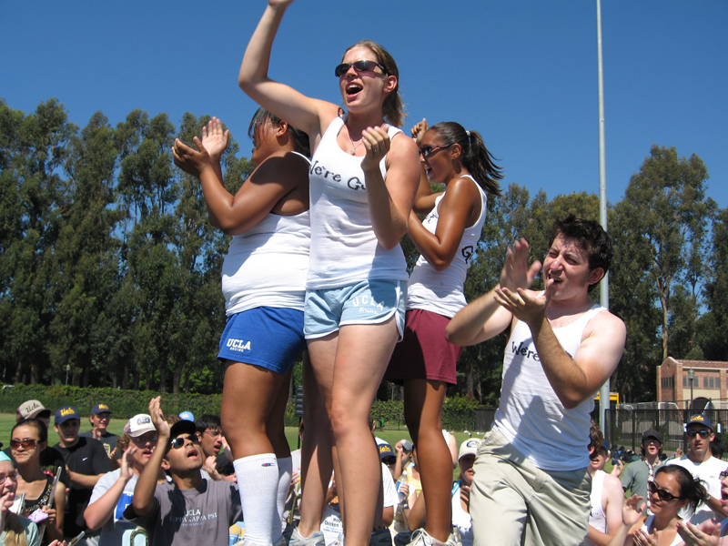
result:
[[[521,239],[508,250],[500,285],[446,330],[451,343],[466,346],[511,329],[500,406],[473,467],[475,546],[575,546],[587,533],[590,412],[622,357],[626,329],[588,296],[612,259],[602,227],[562,218],[549,245],[542,292],[528,289],[541,263],[528,266]]]

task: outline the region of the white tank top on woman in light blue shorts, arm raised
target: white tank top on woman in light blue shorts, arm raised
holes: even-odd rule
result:
[[[307,288],[339,288],[359,280],[407,280],[402,248],[387,250],[374,235],[369,217],[362,157],[351,156],[336,139],[345,116],[331,122],[311,158],[311,258]],[[389,138],[401,133],[389,126]],[[379,163],[386,177],[386,157]]]

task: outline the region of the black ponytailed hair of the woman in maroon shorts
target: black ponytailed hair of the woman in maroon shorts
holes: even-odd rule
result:
[[[466,131],[454,121],[442,121],[430,127],[442,141],[442,144],[460,144],[462,148],[462,164],[468,168],[473,178],[485,191],[493,196],[501,195],[498,181],[503,178],[503,169],[494,163],[495,157],[490,153],[480,133]]]

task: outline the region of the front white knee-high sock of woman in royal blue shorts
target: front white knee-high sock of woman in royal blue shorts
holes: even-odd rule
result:
[[[240,504],[245,521],[245,541],[253,542],[256,546],[272,546],[273,520],[278,517],[276,455],[263,453],[243,457],[233,461],[233,466],[238,478]],[[278,534],[278,538],[280,538],[280,534]]]

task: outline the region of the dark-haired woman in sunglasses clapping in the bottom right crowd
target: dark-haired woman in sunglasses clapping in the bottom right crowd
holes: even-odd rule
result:
[[[647,487],[652,515],[642,515],[644,499],[632,495],[624,503],[622,524],[609,546],[676,546],[682,542],[678,512],[693,513],[708,498],[703,482],[678,465],[660,467]]]

